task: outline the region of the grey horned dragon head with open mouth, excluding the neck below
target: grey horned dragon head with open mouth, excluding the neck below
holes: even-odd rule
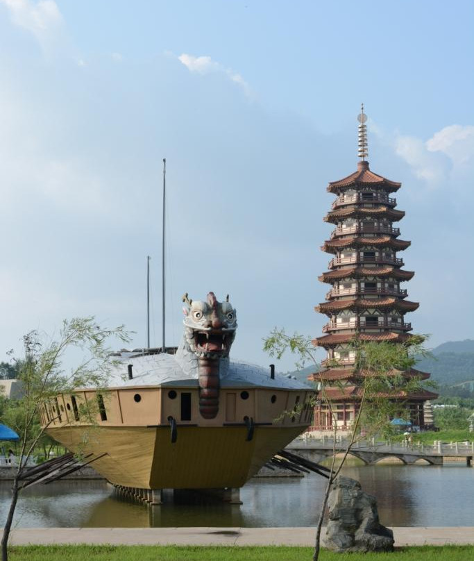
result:
[[[189,349],[198,358],[228,356],[237,329],[235,308],[229,302],[229,296],[225,302],[218,302],[214,292],[210,292],[203,302],[190,300],[185,294],[183,302],[187,304],[183,311]]]

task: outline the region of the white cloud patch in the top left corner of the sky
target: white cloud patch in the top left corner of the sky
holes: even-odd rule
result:
[[[32,33],[43,50],[59,33],[63,25],[62,15],[54,0],[0,0],[10,12],[12,22]]]

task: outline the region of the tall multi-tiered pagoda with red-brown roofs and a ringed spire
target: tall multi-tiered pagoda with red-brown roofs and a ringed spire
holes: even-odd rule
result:
[[[329,270],[319,280],[328,283],[330,290],[325,302],[315,308],[329,321],[323,327],[324,335],[313,343],[323,346],[328,356],[321,363],[323,370],[310,379],[323,380],[340,430],[350,428],[361,395],[360,378],[357,380],[354,371],[356,351],[351,342],[356,335],[359,341],[407,340],[412,324],[405,321],[405,314],[418,308],[418,303],[407,300],[407,290],[401,287],[414,276],[413,271],[403,269],[403,258],[398,253],[411,242],[400,240],[400,228],[394,226],[405,216],[390,196],[401,184],[369,168],[366,119],[362,105],[358,116],[357,171],[328,185],[328,192],[336,199],[324,220],[335,229],[321,246],[332,258]],[[430,377],[415,369],[403,375],[422,380]],[[423,390],[417,394],[399,392],[392,397],[404,401],[412,425],[422,428],[423,403],[437,394]],[[316,405],[310,430],[333,430],[332,423],[328,405]]]

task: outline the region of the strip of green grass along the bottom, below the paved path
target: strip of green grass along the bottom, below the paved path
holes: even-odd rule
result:
[[[474,546],[398,548],[393,553],[331,553],[321,561],[471,561]],[[10,561],[311,561],[310,547],[17,546]]]

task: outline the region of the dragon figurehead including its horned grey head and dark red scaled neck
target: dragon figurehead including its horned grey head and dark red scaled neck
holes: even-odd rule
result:
[[[214,292],[203,301],[183,296],[185,342],[198,359],[199,412],[205,419],[214,419],[219,411],[219,369],[221,358],[229,355],[235,339],[237,317],[227,296],[217,301]]]

